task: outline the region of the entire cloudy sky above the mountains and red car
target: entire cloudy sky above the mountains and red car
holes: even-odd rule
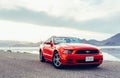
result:
[[[0,0],[0,40],[52,35],[104,40],[119,33],[120,0]]]

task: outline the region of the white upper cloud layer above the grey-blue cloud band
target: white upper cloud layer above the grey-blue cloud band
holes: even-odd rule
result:
[[[0,0],[1,9],[24,7],[76,21],[107,18],[120,13],[119,0]]]

